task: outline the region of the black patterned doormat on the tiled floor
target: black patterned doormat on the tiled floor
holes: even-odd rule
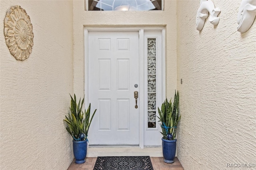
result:
[[[154,170],[149,156],[98,156],[93,170]]]

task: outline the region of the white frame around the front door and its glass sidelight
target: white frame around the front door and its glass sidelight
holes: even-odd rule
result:
[[[166,84],[165,84],[165,79],[166,79],[166,75],[165,75],[165,27],[163,26],[152,26],[152,27],[136,27],[136,26],[123,26],[123,27],[91,27],[91,26],[84,26],[84,94],[85,94],[85,103],[88,105],[90,102],[88,101],[88,58],[89,58],[89,53],[88,53],[88,34],[89,32],[116,32],[116,31],[138,31],[139,33],[139,77],[140,77],[140,81],[139,81],[139,88],[138,91],[139,93],[139,106],[143,106],[143,107],[139,107],[139,147],[140,148],[144,148],[144,127],[145,125],[145,110],[144,109],[144,97],[146,96],[146,94],[144,94],[144,89],[147,88],[147,84],[144,83],[144,79],[145,79],[145,65],[147,60],[145,60],[145,50],[144,50],[144,31],[161,31],[162,32],[162,56],[161,57],[161,68],[157,68],[157,69],[161,69],[160,72],[162,72],[162,75],[158,75],[161,76],[162,79],[162,86],[160,87],[160,91],[162,92],[162,101],[158,101],[158,103],[162,103],[165,98],[166,98]],[[156,121],[157,122],[157,121]]]

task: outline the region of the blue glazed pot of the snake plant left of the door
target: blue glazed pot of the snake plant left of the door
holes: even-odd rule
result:
[[[82,164],[85,162],[87,154],[87,142],[88,140],[76,141],[73,140],[73,152],[77,164]]]

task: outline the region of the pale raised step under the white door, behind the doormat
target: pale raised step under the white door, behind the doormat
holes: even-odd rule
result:
[[[152,156],[162,157],[162,147],[144,147],[143,149],[138,145],[132,146],[105,146],[93,147],[89,146],[87,150],[87,157],[98,156]]]

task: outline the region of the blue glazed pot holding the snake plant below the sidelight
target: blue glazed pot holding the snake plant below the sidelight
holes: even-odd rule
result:
[[[175,157],[175,153],[176,153],[176,143],[177,143],[177,139],[166,140],[166,139],[162,138],[162,149],[163,149],[164,162],[166,162],[166,163],[174,162],[174,157]]]

